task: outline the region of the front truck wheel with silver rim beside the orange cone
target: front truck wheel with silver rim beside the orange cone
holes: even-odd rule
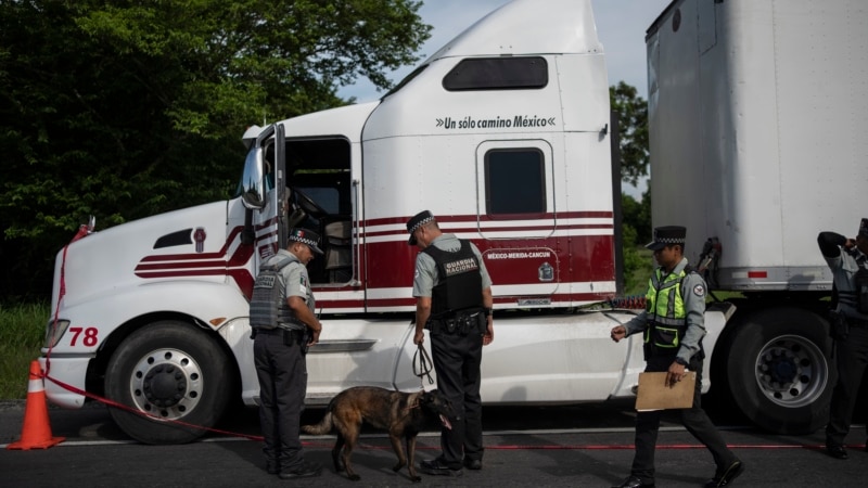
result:
[[[140,442],[190,442],[206,432],[196,426],[212,427],[222,415],[234,391],[230,364],[217,341],[190,324],[169,320],[146,325],[112,355],[105,394],[148,415],[108,410]]]

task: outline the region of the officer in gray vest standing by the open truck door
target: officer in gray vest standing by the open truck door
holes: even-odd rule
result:
[[[318,476],[321,466],[305,461],[299,437],[307,389],[307,347],[319,341],[322,324],[307,274],[314,255],[322,255],[319,235],[293,229],[286,249],[259,268],[251,298],[253,356],[259,378],[259,423],[266,471],[282,479]]]

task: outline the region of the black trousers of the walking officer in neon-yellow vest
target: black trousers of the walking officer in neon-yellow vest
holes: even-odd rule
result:
[[[674,356],[656,356],[648,359],[646,371],[668,371]],[[725,470],[733,461],[736,454],[732,453],[724,441],[717,427],[712,424],[709,415],[702,410],[702,360],[698,356],[690,360],[687,367],[690,371],[697,372],[697,387],[693,390],[693,407],[678,410],[681,416],[681,424],[693,435],[714,457],[717,470]],[[660,431],[660,418],[663,411],[636,413],[636,455],[633,459],[631,474],[642,483],[654,481],[654,450],[658,444],[658,432]]]

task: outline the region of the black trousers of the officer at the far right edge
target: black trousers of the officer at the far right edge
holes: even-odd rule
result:
[[[834,342],[834,354],[838,383],[832,391],[832,403],[829,407],[826,445],[843,446],[844,437],[850,432],[861,376],[868,365],[868,326],[851,326],[847,338]]]

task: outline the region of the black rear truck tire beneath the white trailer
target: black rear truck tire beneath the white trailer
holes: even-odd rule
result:
[[[736,406],[781,435],[810,434],[829,420],[834,387],[828,325],[794,307],[752,312],[735,324],[727,381]]]

